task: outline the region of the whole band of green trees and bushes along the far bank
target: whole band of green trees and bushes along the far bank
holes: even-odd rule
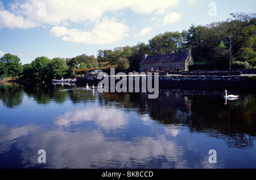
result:
[[[230,33],[232,33],[230,39]],[[75,78],[98,69],[109,72],[138,71],[144,54],[160,55],[182,53],[191,48],[195,69],[229,69],[230,40],[232,40],[232,68],[256,67],[256,14],[230,14],[225,22],[209,25],[191,25],[182,32],[165,32],[134,46],[98,50],[94,55],[77,55],[73,58],[35,58],[22,65],[18,56],[5,54],[0,59],[0,76],[18,76],[30,80]]]

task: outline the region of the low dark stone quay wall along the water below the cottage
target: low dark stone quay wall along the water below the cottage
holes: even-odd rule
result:
[[[117,77],[117,76],[115,76]],[[128,75],[126,76],[128,78]],[[113,76],[105,76],[111,82]],[[115,78],[115,84],[122,78]],[[108,81],[107,80],[107,81]],[[112,79],[113,80],[113,79]],[[146,80],[145,76],[134,76],[133,82],[139,80],[141,86],[142,81]],[[154,81],[154,75],[152,76]],[[77,78],[76,84],[85,86],[86,84],[98,84],[102,79],[97,79],[97,76],[84,76]],[[251,88],[256,89],[256,74],[254,75],[239,75],[239,76],[207,76],[207,75],[165,75],[159,76],[160,88]]]

